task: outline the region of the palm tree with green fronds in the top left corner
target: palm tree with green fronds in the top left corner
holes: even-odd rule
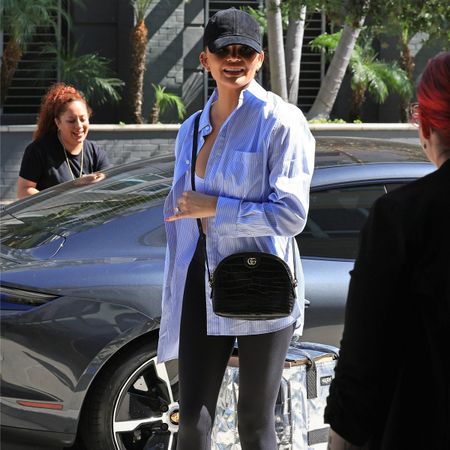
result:
[[[9,36],[2,55],[0,103],[3,104],[19,61],[37,27],[56,28],[58,15],[68,20],[57,0],[2,0],[1,30]]]

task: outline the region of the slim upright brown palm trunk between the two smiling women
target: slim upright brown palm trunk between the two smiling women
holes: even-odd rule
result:
[[[143,20],[131,31],[131,64],[128,88],[131,115],[134,123],[143,123],[142,98],[144,90],[145,52],[148,42],[148,29]]]

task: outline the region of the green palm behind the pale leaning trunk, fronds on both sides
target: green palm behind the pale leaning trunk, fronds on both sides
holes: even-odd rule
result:
[[[310,42],[314,50],[325,50],[334,54],[339,45],[342,31],[334,34],[321,34]],[[372,39],[364,35],[363,44],[355,44],[350,57],[349,68],[352,75],[352,107],[350,120],[360,119],[361,108],[369,93],[375,101],[383,103],[389,93],[395,92],[402,98],[409,98],[412,85],[408,74],[397,62],[385,62],[377,59],[377,53],[371,46]]]

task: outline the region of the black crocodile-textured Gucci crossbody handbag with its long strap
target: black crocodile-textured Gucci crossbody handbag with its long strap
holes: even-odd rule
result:
[[[195,191],[199,121],[200,114],[197,115],[194,122],[191,161],[193,191]],[[197,225],[200,239],[203,241],[215,314],[234,319],[270,320],[287,317],[292,313],[297,280],[285,261],[271,253],[257,251],[234,253],[223,259],[211,275],[206,253],[206,236],[200,219],[197,219]],[[293,241],[292,250],[295,274]]]

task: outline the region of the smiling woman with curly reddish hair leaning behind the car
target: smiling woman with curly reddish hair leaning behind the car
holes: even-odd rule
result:
[[[65,181],[102,179],[106,152],[86,139],[92,113],[73,86],[57,83],[42,99],[33,142],[25,149],[17,182],[19,199]]]

